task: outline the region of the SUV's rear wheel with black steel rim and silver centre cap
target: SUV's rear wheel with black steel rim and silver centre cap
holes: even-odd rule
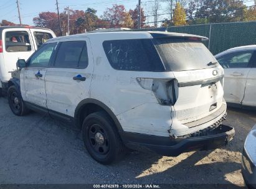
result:
[[[125,145],[107,113],[99,111],[85,118],[83,142],[88,153],[100,164],[111,164],[123,156]]]

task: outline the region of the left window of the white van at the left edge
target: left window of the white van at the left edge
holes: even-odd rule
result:
[[[7,52],[31,51],[31,41],[26,31],[6,32],[5,37]]]

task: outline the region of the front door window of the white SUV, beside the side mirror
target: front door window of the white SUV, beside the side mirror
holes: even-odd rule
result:
[[[27,67],[48,67],[57,43],[45,44],[29,60]]]

